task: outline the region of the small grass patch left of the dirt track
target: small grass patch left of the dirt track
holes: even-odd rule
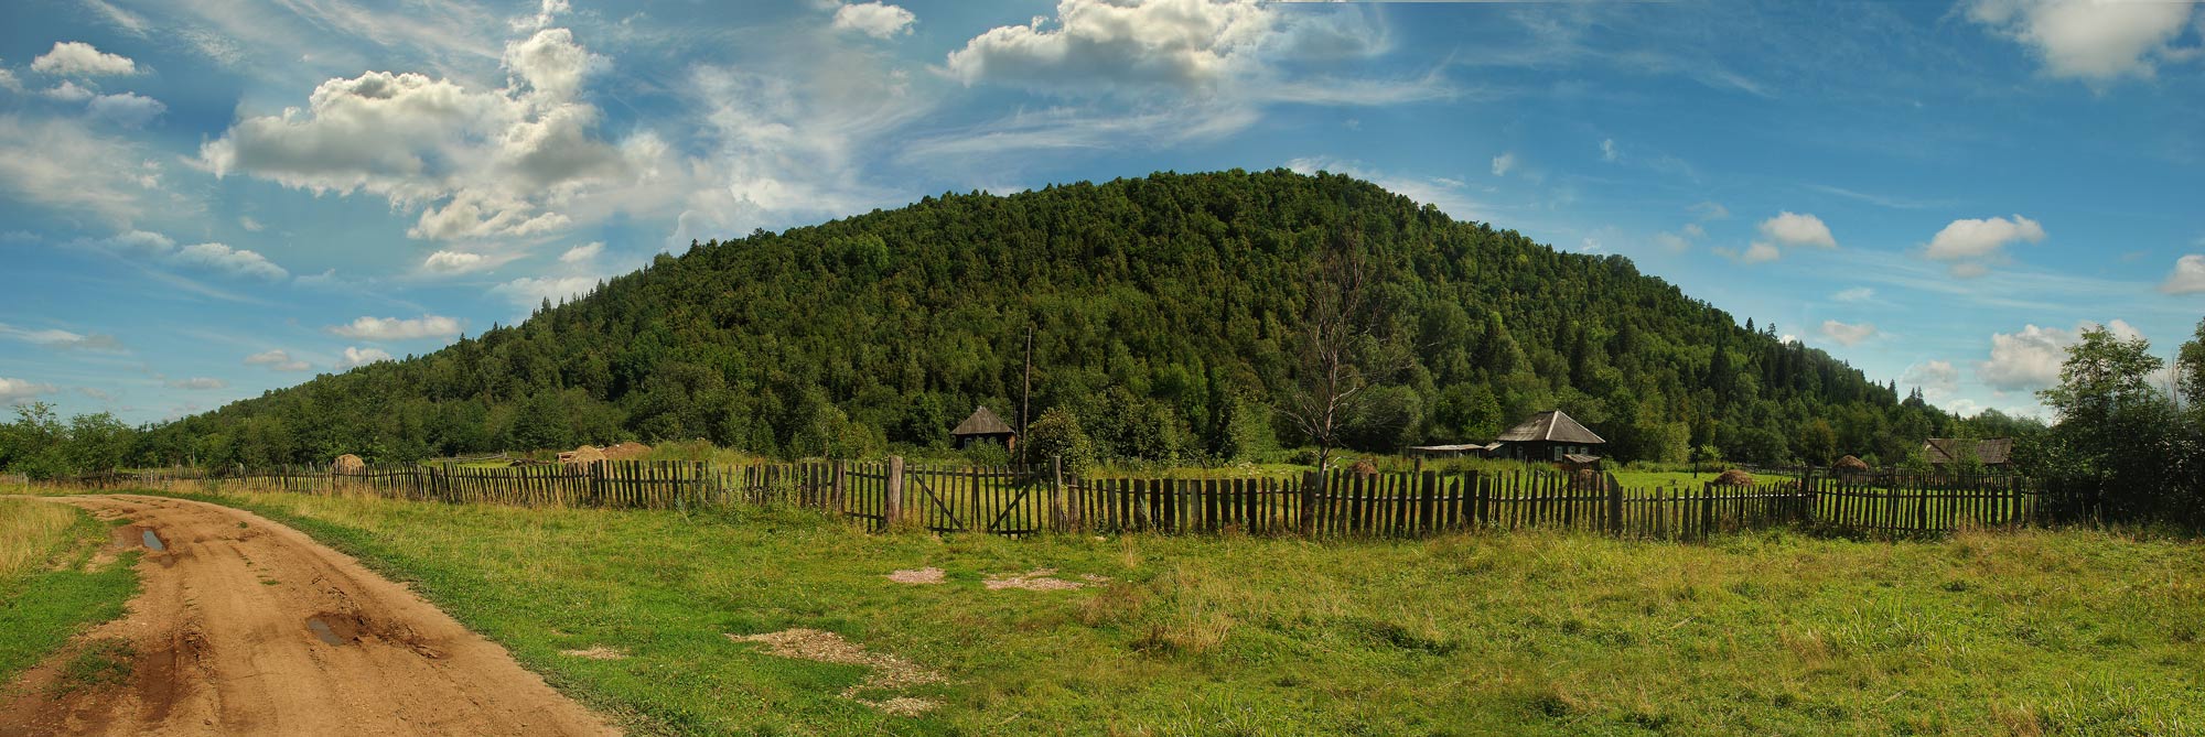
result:
[[[137,594],[137,554],[95,560],[106,541],[108,525],[84,510],[0,499],[0,684],[123,613]]]

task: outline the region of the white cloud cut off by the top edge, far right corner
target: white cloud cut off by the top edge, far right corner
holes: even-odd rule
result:
[[[2192,9],[2192,2],[1973,0],[1967,18],[2035,51],[2053,77],[2110,82],[2150,77],[2156,60],[2192,55],[2172,46]]]

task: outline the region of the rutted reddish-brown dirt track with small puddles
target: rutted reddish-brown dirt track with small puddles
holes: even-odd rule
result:
[[[613,735],[505,649],[304,534],[161,496],[60,499],[143,545],[143,591],[90,638],[137,651],[126,684],[13,684],[0,735]],[[152,538],[146,536],[152,532]],[[165,549],[154,549],[165,547]]]

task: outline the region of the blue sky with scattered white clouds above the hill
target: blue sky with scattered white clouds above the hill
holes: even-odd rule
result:
[[[1962,415],[2205,318],[2192,2],[0,7],[0,406],[163,421],[690,241],[1330,170]]]

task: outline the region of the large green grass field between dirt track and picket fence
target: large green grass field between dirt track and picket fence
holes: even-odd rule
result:
[[[642,733],[2176,735],[2205,730],[2205,549],[2106,532],[1707,545],[862,534],[792,510],[225,494],[417,587]],[[942,585],[893,569],[942,567]],[[1107,576],[990,591],[988,574]],[[847,635],[942,673],[725,635]],[[602,649],[617,660],[567,655]]]

